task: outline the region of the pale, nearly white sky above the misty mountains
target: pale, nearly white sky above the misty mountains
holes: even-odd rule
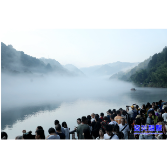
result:
[[[82,68],[142,62],[167,46],[167,28],[1,28],[1,42]]]

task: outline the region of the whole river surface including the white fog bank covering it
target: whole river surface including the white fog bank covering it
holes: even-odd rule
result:
[[[67,122],[70,130],[76,119],[91,113],[106,115],[108,109],[126,105],[167,101],[166,88],[137,88],[132,83],[109,77],[8,76],[1,73],[1,131],[13,140],[22,130],[43,126],[45,135],[54,120]],[[130,89],[135,87],[136,91]]]

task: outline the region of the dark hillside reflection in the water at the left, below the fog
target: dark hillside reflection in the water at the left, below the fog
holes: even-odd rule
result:
[[[13,109],[3,110],[1,112],[1,130],[5,129],[6,126],[9,128],[13,127],[17,121],[23,121],[31,115],[37,114],[39,111],[50,112],[59,108],[61,103],[56,102],[55,104],[41,104],[38,106],[27,106],[27,107],[17,107]],[[30,122],[31,124],[31,122]]]

